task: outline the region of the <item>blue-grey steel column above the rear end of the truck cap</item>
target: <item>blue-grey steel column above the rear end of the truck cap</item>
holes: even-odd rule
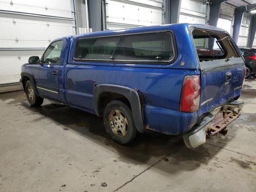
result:
[[[165,24],[178,23],[180,18],[181,0],[165,1]]]

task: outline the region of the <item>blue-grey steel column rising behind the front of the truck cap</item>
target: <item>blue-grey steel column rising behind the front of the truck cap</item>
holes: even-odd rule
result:
[[[94,31],[103,30],[102,1],[88,0],[89,26]]]

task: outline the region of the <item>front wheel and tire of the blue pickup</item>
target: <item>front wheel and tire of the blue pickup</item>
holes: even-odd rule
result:
[[[25,92],[26,92],[28,102],[31,106],[40,106],[44,102],[44,98],[36,95],[36,92],[31,84],[30,80],[28,80],[26,82]]]

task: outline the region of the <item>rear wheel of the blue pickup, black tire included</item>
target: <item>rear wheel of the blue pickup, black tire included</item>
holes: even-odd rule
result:
[[[104,110],[104,126],[112,140],[128,145],[135,139],[137,130],[132,111],[121,101],[114,100]]]

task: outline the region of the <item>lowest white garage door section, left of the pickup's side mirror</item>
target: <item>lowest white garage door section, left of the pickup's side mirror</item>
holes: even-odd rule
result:
[[[30,56],[42,56],[44,50],[0,51],[0,84],[18,82],[20,67],[28,62]]]

